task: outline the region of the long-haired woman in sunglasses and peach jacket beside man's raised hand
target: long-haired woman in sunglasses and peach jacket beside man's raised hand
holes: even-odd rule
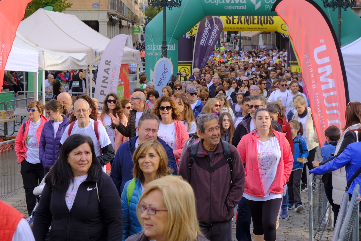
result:
[[[114,153],[117,153],[120,144],[128,141],[129,138],[125,137],[120,132],[118,132],[118,130],[115,128],[115,124],[112,123],[112,119],[110,118],[109,114],[112,114],[113,116],[116,116],[117,114],[120,122],[124,126],[127,126],[128,119],[124,115],[124,109],[122,107],[118,95],[114,93],[110,93],[105,96],[103,111],[98,117],[98,120],[101,121],[101,123],[105,127],[106,133],[109,135],[109,139],[110,142],[112,142]]]

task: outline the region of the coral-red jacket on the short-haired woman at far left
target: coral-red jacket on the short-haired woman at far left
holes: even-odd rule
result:
[[[39,128],[36,130],[36,137],[38,139],[38,145],[40,142],[40,136],[42,134],[42,130],[44,127],[45,122],[48,121],[48,118],[45,117],[44,115],[42,115],[40,117],[40,119],[42,120],[40,122]],[[18,134],[16,135],[15,138],[15,151],[16,151],[16,157],[18,158],[18,162],[21,163],[25,158],[27,158],[27,156],[25,155],[25,152],[27,151],[26,145],[25,145],[25,139],[27,136],[27,132],[29,131],[29,125],[30,125],[30,121],[31,119],[28,119],[26,121],[26,126],[25,126],[25,132],[23,133],[23,124],[21,124]]]

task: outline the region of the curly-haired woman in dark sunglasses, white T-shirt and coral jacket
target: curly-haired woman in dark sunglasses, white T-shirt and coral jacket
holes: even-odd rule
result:
[[[181,117],[178,104],[173,98],[162,96],[154,104],[152,113],[160,119],[158,137],[162,138],[173,149],[178,165],[184,143],[189,138],[186,127],[178,120]]]

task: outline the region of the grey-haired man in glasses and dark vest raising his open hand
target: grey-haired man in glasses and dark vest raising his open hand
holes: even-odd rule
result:
[[[129,103],[132,105],[132,110],[129,113],[127,126],[120,122],[117,114],[116,116],[112,114],[109,116],[119,133],[125,137],[133,138],[138,135],[136,127],[138,126],[139,118],[145,113],[150,113],[152,109],[145,105],[145,95],[140,91],[131,94]]]

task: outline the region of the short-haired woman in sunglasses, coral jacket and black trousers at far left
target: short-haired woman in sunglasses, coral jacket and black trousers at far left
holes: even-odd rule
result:
[[[15,138],[15,151],[21,164],[21,177],[25,189],[29,216],[35,207],[36,196],[32,193],[44,178],[44,167],[39,158],[40,136],[48,119],[43,116],[44,105],[34,100],[27,105],[29,119],[20,126]]]

